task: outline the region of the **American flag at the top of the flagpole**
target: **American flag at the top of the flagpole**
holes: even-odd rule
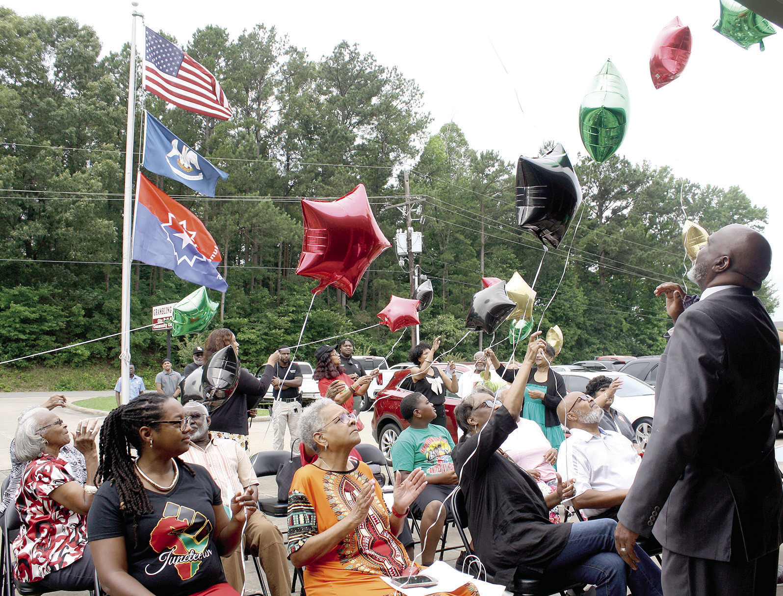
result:
[[[146,27],[144,74],[144,88],[168,103],[202,116],[231,117],[229,100],[215,76],[150,27]]]

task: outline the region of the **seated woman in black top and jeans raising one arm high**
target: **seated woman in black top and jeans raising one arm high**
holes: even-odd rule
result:
[[[648,555],[637,548],[639,561],[631,569],[615,551],[617,522],[550,522],[550,509],[574,496],[572,479],[562,482],[557,475],[557,490],[543,497],[536,480],[502,450],[517,429],[529,371],[545,349],[539,334],[532,334],[519,374],[500,403],[478,393],[456,406],[465,435],[452,458],[475,552],[493,582],[505,586],[524,568],[561,585],[590,583],[602,596],[625,596],[628,587],[634,596],[660,596],[661,570]],[[557,585],[552,587],[557,591]]]

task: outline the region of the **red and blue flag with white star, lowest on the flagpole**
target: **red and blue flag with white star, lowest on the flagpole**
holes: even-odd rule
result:
[[[220,250],[204,224],[141,172],[136,181],[133,258],[171,269],[193,284],[221,292],[229,288],[215,265],[221,261]]]

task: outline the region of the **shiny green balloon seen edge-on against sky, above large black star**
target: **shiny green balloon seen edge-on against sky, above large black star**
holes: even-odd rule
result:
[[[628,88],[619,70],[607,60],[579,107],[579,133],[587,153],[599,164],[618,150],[628,128]]]

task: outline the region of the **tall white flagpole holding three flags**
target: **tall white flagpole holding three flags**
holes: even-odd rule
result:
[[[134,7],[139,2],[131,3]],[[136,17],[143,16],[133,10],[131,27],[131,67],[128,73],[128,132],[125,139],[125,197],[122,211],[122,328],[121,328],[121,403],[130,398],[131,364],[131,219],[133,192],[133,129],[136,115]]]

